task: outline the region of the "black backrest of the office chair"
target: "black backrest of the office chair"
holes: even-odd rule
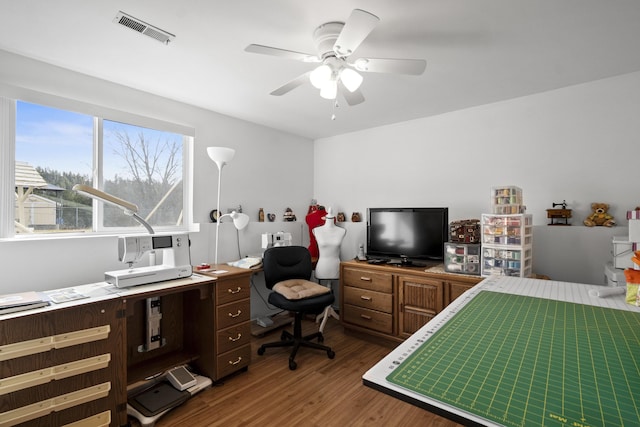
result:
[[[275,246],[264,252],[262,269],[269,289],[283,280],[309,280],[313,271],[311,254],[304,246]]]

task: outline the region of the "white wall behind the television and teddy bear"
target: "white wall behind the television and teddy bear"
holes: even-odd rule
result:
[[[347,217],[369,207],[448,206],[455,220],[480,218],[491,187],[516,185],[544,226],[534,232],[534,272],[602,283],[611,235],[626,235],[626,211],[640,204],[638,111],[640,73],[632,73],[320,139],[314,194]],[[546,209],[562,200],[573,209],[570,232],[545,225]],[[621,228],[583,227],[592,202],[609,203]],[[351,258],[366,228],[345,226],[342,256]]]

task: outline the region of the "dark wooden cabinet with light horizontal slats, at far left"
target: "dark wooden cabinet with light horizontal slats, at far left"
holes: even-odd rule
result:
[[[126,425],[124,337],[119,298],[7,316],[0,425]]]

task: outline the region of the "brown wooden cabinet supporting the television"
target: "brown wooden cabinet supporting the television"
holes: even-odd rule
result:
[[[346,329],[402,341],[431,320],[478,276],[446,273],[442,266],[340,265],[340,319]]]

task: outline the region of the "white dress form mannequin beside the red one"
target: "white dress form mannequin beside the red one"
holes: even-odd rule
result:
[[[342,245],[344,235],[347,233],[344,228],[335,224],[335,217],[331,208],[327,210],[325,219],[324,225],[313,229],[320,253],[315,269],[315,276],[318,281],[340,278],[340,245]],[[333,307],[327,307],[322,315],[320,332],[324,330],[324,325],[327,323],[329,316],[340,319]]]

